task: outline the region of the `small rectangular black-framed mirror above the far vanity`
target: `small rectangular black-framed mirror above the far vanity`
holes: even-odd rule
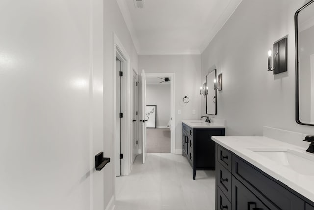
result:
[[[216,69],[206,75],[206,114],[217,115]]]

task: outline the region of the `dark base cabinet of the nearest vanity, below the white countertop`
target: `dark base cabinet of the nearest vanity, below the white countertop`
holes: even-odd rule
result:
[[[314,203],[216,145],[216,210],[314,210]]]

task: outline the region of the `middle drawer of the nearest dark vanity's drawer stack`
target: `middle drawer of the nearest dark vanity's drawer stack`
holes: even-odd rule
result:
[[[231,201],[231,173],[220,163],[216,165],[216,185]]]

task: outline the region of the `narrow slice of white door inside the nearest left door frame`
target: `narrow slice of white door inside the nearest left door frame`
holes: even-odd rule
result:
[[[121,175],[121,159],[120,159],[120,153],[121,153],[121,119],[120,119],[120,108],[121,108],[121,96],[120,96],[120,65],[121,61],[116,58],[116,137],[115,137],[115,158],[117,161],[115,161],[115,172],[116,176]]]

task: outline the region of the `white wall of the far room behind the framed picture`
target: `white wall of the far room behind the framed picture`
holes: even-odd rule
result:
[[[146,85],[146,104],[157,105],[156,126],[167,126],[170,120],[170,84]]]

